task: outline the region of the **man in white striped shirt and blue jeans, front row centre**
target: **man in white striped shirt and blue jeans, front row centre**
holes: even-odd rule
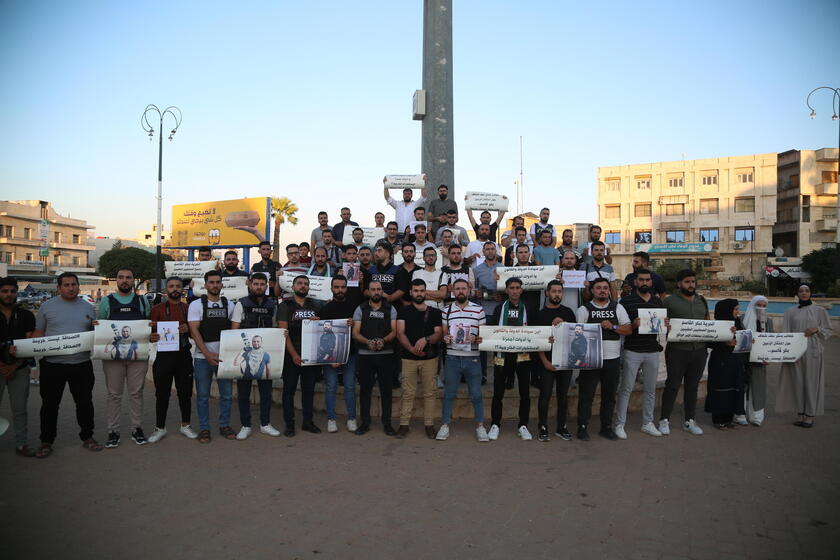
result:
[[[455,299],[443,311],[443,342],[447,345],[446,363],[444,364],[443,423],[435,439],[449,439],[449,423],[452,421],[452,403],[458,394],[458,384],[463,376],[467,381],[473,410],[475,411],[475,435],[478,441],[490,441],[484,428],[484,395],[481,393],[481,360],[478,357],[478,345],[481,337],[478,328],[487,321],[480,305],[468,299],[471,288],[463,278],[452,284]],[[457,340],[453,333],[463,335],[465,340]]]

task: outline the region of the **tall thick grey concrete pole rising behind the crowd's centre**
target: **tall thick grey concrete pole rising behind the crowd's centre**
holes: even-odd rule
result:
[[[429,196],[438,185],[455,198],[455,152],[452,111],[452,0],[423,0],[422,169],[429,177]]]

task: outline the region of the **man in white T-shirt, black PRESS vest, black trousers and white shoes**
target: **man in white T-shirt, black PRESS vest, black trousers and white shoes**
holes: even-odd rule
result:
[[[620,303],[610,299],[610,285],[606,278],[596,278],[589,286],[592,301],[578,307],[578,323],[601,325],[603,359],[600,369],[581,370],[578,377],[578,439],[589,441],[587,426],[592,415],[592,401],[598,383],[601,383],[601,436],[615,440],[612,415],[615,410],[615,393],[621,370],[621,336],[631,334],[633,326],[627,311]]]

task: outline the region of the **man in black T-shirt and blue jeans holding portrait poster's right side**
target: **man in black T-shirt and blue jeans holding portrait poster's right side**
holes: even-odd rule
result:
[[[347,321],[348,326],[352,329],[353,320],[351,317],[353,317],[353,313],[356,311],[356,308],[359,304],[361,304],[361,296],[358,303],[350,300],[349,291],[351,288],[347,287],[347,279],[344,276],[333,276],[330,288],[332,290],[333,298],[321,308],[318,312],[319,316],[321,319]],[[344,384],[344,406],[347,409],[347,431],[355,432],[359,427],[356,423],[356,363],[356,344],[351,339],[350,352],[347,354],[347,363],[321,366],[321,370],[324,375],[324,401],[326,402],[327,408],[327,432],[334,433],[338,431],[335,401],[336,391],[338,390],[339,375],[341,376],[341,380]]]

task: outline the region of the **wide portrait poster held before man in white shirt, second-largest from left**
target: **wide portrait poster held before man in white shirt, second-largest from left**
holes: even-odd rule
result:
[[[286,329],[222,331],[219,379],[280,379],[286,356]]]

